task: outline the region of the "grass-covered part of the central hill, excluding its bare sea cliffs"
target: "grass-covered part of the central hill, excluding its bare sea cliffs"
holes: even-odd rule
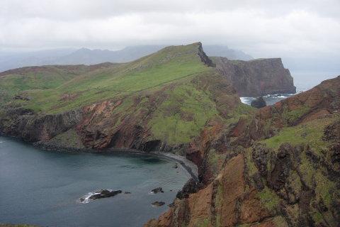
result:
[[[209,121],[237,121],[235,113],[251,110],[240,103],[229,82],[210,64],[201,43],[193,43],[170,46],[128,63],[41,67],[39,73],[46,77],[34,77],[32,71],[38,70],[30,67],[23,68],[26,74],[14,70],[0,79],[25,78],[16,98],[6,102],[9,106],[46,116],[110,101],[117,104],[114,111],[97,119],[105,125],[91,126],[91,130],[96,128],[111,138],[133,123],[149,128],[146,140],[175,145],[196,138]],[[106,148],[111,143],[96,140],[91,144],[94,148]]]

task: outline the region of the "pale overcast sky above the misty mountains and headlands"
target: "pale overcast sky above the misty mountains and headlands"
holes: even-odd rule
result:
[[[339,0],[0,0],[0,52],[201,41],[340,69],[339,11]]]

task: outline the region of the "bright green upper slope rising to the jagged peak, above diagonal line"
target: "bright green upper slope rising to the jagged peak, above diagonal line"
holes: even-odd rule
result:
[[[81,74],[48,90],[30,90],[30,101],[16,101],[29,109],[56,114],[103,99],[122,99],[145,89],[164,86],[196,72],[210,70],[197,56],[198,43],[169,47],[134,62]],[[63,99],[69,96],[70,99]]]

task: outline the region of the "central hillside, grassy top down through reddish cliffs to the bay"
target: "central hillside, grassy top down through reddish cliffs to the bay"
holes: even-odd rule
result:
[[[40,85],[22,86],[13,94],[0,111],[0,127],[8,135],[64,146],[74,145],[72,135],[72,141],[81,140],[78,148],[169,150],[198,138],[211,122],[237,121],[251,109],[211,66],[201,44],[193,43],[133,62],[78,66],[78,74],[70,66],[60,67],[69,73],[64,81],[59,79],[62,73],[53,71],[53,77],[46,72],[55,86],[47,87],[44,76],[35,77],[34,84]],[[23,84],[31,84],[26,78],[31,74],[21,75]]]

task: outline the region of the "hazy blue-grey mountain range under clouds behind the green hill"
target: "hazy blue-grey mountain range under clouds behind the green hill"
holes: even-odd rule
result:
[[[0,53],[0,72],[25,66],[40,65],[95,65],[102,62],[130,62],[161,50],[166,45],[136,45],[123,50],[90,50],[87,48],[42,50],[38,52]],[[241,50],[225,45],[203,45],[208,56],[227,57],[229,60],[251,60]]]

